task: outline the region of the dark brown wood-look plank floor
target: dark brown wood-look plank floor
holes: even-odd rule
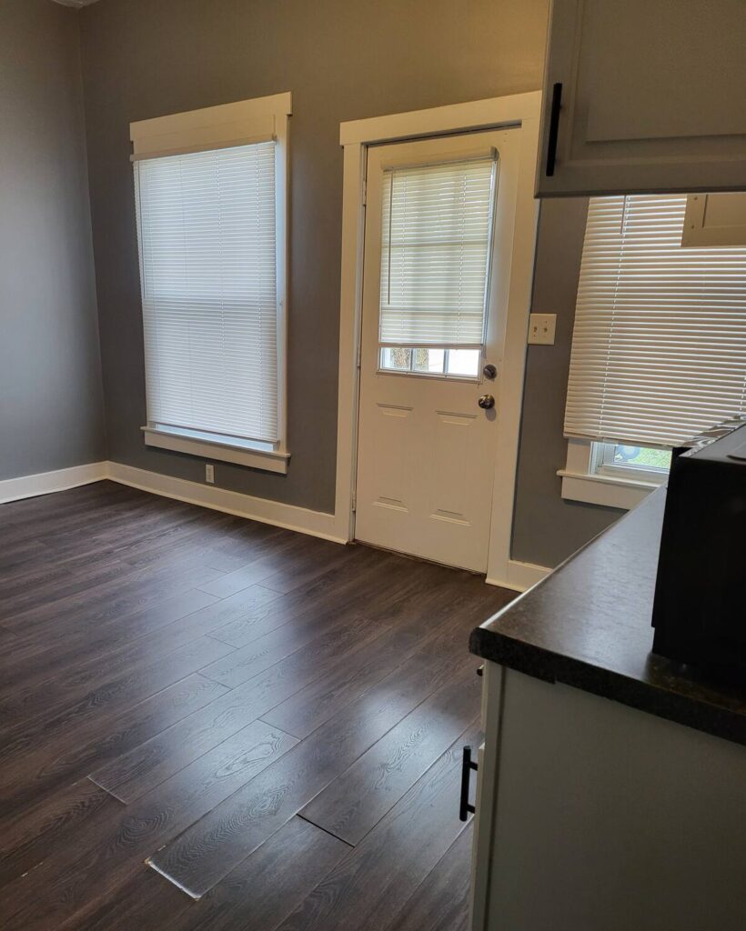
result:
[[[510,597],[110,482],[0,506],[0,926],[465,928]]]

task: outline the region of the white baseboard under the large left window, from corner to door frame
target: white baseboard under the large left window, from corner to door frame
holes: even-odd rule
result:
[[[267,498],[255,498],[251,494],[229,492],[224,488],[201,485],[196,481],[174,479],[168,475],[149,472],[134,466],[125,466],[122,463],[110,462],[108,466],[106,478],[119,482],[121,485],[139,488],[143,492],[161,494],[166,498],[175,498],[177,501],[185,501],[190,505],[210,507],[215,511],[259,520],[287,530],[308,533],[310,536],[320,536],[334,543],[347,542],[336,532],[333,514],[312,511],[307,507],[285,505]]]

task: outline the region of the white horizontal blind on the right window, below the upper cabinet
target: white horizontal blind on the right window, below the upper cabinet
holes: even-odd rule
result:
[[[683,248],[685,209],[590,199],[566,436],[675,446],[746,410],[746,249]]]

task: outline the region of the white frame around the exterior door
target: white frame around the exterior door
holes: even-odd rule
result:
[[[365,174],[368,146],[477,129],[516,127],[521,133],[520,177],[510,265],[508,321],[502,362],[497,453],[492,501],[487,581],[510,582],[510,536],[513,525],[518,443],[521,429],[523,373],[528,316],[534,277],[538,202],[534,198],[541,91],[455,103],[408,114],[375,116],[340,124],[345,153],[342,208],[342,286],[339,321],[339,407],[335,534],[351,540],[353,494],[357,473],[360,317],[365,235]]]

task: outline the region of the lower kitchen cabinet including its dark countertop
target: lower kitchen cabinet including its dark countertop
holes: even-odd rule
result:
[[[471,633],[470,931],[746,928],[746,689],[652,652],[666,495]]]

